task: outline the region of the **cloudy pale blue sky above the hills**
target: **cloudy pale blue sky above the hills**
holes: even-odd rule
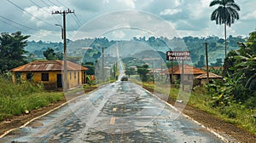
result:
[[[210,20],[212,0],[2,0],[0,31],[21,31],[29,41],[61,42],[62,15],[67,38],[107,37],[224,37],[224,25]],[[256,1],[236,0],[240,19],[227,29],[233,37],[247,37],[256,29]],[[59,25],[59,26],[55,26]]]

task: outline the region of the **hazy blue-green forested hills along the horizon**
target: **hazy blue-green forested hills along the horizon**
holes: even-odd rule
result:
[[[86,38],[83,40],[71,41],[67,40],[67,55],[68,56],[81,56],[84,49],[86,47],[92,47],[97,51],[101,52],[102,47],[110,47],[114,43],[118,43],[120,41],[109,41],[108,38],[95,38],[90,39]],[[224,61],[224,39],[210,36],[210,37],[174,37],[172,39],[167,39],[166,37],[133,37],[130,42],[139,42],[146,43],[152,49],[157,51],[166,53],[167,50],[189,50],[191,54],[191,60],[195,64],[195,66],[199,66],[200,60],[204,60],[205,55],[205,43],[207,42],[208,52],[209,52],[209,63],[214,65],[217,59]],[[185,45],[183,44],[185,43]],[[245,42],[245,38],[242,37],[228,37],[228,51],[231,49],[238,49],[237,42]],[[127,41],[125,41],[127,44]],[[134,44],[134,43],[132,43]],[[119,44],[122,46],[122,43]],[[30,41],[26,46],[26,50],[29,54],[33,55],[36,59],[44,58],[44,51],[47,49],[54,49],[55,52],[63,51],[62,43],[51,43],[51,42],[35,42]],[[127,49],[129,51],[129,49]]]

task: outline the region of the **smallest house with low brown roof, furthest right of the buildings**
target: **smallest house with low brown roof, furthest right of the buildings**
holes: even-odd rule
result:
[[[196,83],[198,84],[206,84],[207,83],[207,73],[201,74],[198,77],[195,77]],[[209,83],[212,83],[213,80],[222,81],[223,77],[218,76],[217,74],[214,74],[212,72],[209,72]]]

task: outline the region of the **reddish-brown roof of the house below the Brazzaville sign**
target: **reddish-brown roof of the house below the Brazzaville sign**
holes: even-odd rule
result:
[[[194,66],[184,65],[183,67],[184,67],[184,74],[200,75],[200,74],[206,73]],[[183,72],[182,66],[173,66],[173,74],[179,75],[179,74],[182,74],[182,72]],[[172,74],[172,68],[169,68],[168,71],[166,70],[164,73]]]

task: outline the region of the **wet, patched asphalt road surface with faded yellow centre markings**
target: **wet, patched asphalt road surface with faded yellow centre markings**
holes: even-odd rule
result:
[[[130,82],[110,83],[0,142],[224,142]]]

